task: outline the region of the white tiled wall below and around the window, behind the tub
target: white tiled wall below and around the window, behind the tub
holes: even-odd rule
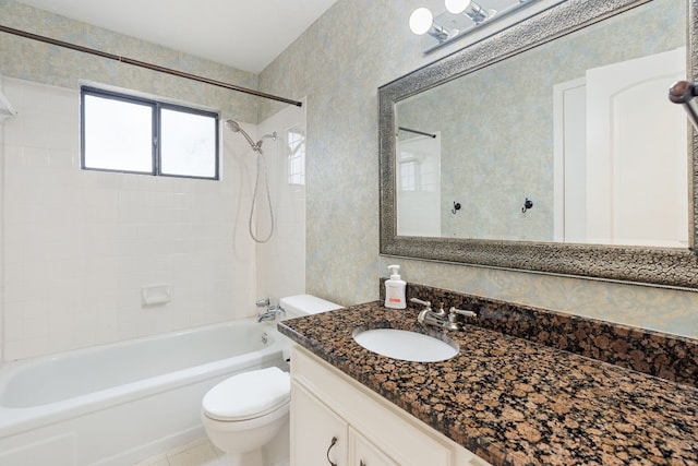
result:
[[[80,170],[79,93],[5,79],[4,360],[255,312],[254,157],[222,131],[221,180]],[[254,128],[250,128],[254,131]],[[172,300],[141,304],[141,287]]]

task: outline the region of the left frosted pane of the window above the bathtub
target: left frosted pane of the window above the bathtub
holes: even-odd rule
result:
[[[85,95],[85,168],[153,172],[153,107]]]

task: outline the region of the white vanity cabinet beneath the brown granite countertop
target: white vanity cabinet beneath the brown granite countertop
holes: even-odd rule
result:
[[[489,466],[299,346],[291,375],[291,466]]]

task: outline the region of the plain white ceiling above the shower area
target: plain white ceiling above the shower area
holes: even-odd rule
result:
[[[19,3],[256,74],[336,1],[19,0]]]

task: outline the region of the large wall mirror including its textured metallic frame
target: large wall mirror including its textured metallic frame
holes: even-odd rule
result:
[[[381,253],[698,288],[688,3],[568,0],[382,86]]]

